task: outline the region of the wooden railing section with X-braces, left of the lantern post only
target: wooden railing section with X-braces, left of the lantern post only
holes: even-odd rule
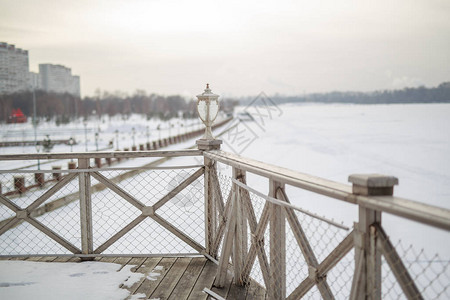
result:
[[[55,184],[51,185],[51,182],[46,182],[44,186],[36,187],[34,189],[27,190],[26,192],[20,194],[20,197],[7,197],[5,195],[0,195],[0,237],[7,233],[9,230],[15,229],[17,226],[28,223],[33,227],[38,229],[40,232],[44,233],[51,240],[55,241],[57,244],[69,251],[69,253],[81,257],[92,257],[102,255],[106,249],[111,245],[116,243],[124,235],[129,233],[132,229],[136,228],[139,224],[145,221],[147,218],[155,221],[159,226],[162,226],[167,230],[168,234],[172,234],[180,239],[185,244],[189,245],[195,250],[194,253],[201,253],[204,251],[204,246],[199,242],[199,239],[194,239],[189,234],[186,234],[185,228],[177,228],[163,218],[159,212],[162,208],[173,199],[178,193],[183,189],[190,186],[194,181],[198,180],[204,172],[204,167],[202,165],[186,165],[186,166],[173,166],[173,167],[158,167],[162,162],[167,161],[169,158],[173,157],[186,157],[186,156],[200,156],[202,154],[199,150],[179,150],[179,151],[120,151],[120,152],[95,152],[95,153],[54,153],[54,154],[18,154],[18,155],[0,155],[0,160],[44,160],[44,159],[75,159],[78,162],[78,168],[68,169],[68,170],[40,170],[41,174],[45,173],[63,173],[59,180],[54,181]],[[151,162],[146,163],[139,167],[118,167],[118,168],[93,168],[91,167],[92,162],[96,158],[120,158],[122,160],[134,159],[134,158],[146,158],[152,159]],[[138,174],[157,170],[183,170],[190,169],[191,174],[183,174],[181,176],[180,182],[176,185],[167,189],[163,186],[159,193],[159,199],[156,196],[151,196],[150,188],[143,187],[143,184],[151,184],[152,182],[130,182],[132,185],[131,189],[120,186],[124,180],[133,180]],[[16,174],[16,173],[30,173],[37,171],[27,171],[27,170],[14,170],[8,171],[3,170],[3,174]],[[116,172],[112,174],[113,176],[104,175],[105,172]],[[147,173],[144,173],[147,174]],[[177,174],[174,174],[174,176]],[[163,175],[158,175],[160,178],[155,177],[158,180],[166,180]],[[151,179],[151,180],[155,180]],[[93,183],[92,180],[97,181]],[[166,182],[167,183],[167,182]],[[63,193],[62,196],[56,197],[55,195],[60,192],[63,188],[67,188],[69,184],[73,184],[74,187],[70,189],[69,192]],[[141,186],[139,186],[141,185]],[[136,194],[139,189],[148,192],[148,199],[146,195],[141,196],[138,199]],[[74,191],[74,189],[77,189]],[[94,246],[94,234],[93,227],[98,224],[94,224],[93,220],[93,206],[95,208],[95,203],[93,204],[92,198],[105,190],[109,190],[114,193],[115,196],[120,198],[120,201],[126,203],[126,205],[131,206],[135,209],[135,217],[132,220],[121,220],[123,224],[120,230],[116,230],[113,234],[110,234],[107,239],[101,239],[101,242],[97,242],[97,246]],[[117,199],[115,200],[117,201]],[[21,204],[19,204],[19,202]],[[98,199],[98,206],[104,205],[110,202],[108,199]],[[45,223],[51,223],[54,215],[47,217],[50,213],[58,213],[58,209],[64,208],[73,203],[78,203],[79,211],[71,210],[70,214],[67,215],[67,219],[71,219],[73,222],[78,222],[76,218],[80,218],[79,224],[80,228],[74,229],[76,234],[79,234],[80,238],[76,242],[71,242],[68,240],[67,236],[63,236],[56,230],[50,228],[49,225]],[[114,203],[115,204],[115,203]],[[101,213],[101,207],[98,208]],[[130,208],[127,208],[129,210]],[[123,209],[125,210],[125,209]],[[4,214],[2,217],[2,213]],[[67,213],[67,212],[66,212]],[[118,212],[126,213],[126,211]],[[39,218],[41,220],[39,220]],[[47,220],[46,220],[47,219]],[[109,220],[111,222],[116,222],[118,220]],[[104,225],[107,226],[107,225]],[[67,228],[65,229],[67,231]],[[20,234],[20,233],[19,233]],[[202,240],[202,239],[200,239]],[[3,246],[7,246],[8,240],[3,241]],[[79,244],[77,244],[79,242]],[[157,241],[156,241],[157,243]],[[1,247],[0,247],[1,248]],[[0,255],[11,255],[11,254],[21,254],[14,252],[2,253],[0,250]],[[61,254],[61,253],[44,253],[40,252],[41,249],[37,248],[34,250],[33,254]],[[22,253],[23,254],[23,253]],[[68,254],[68,253],[63,253]],[[117,254],[124,254],[117,253]],[[125,253],[126,254],[126,253]],[[145,254],[145,253],[138,253]],[[147,253],[149,254],[149,253]]]

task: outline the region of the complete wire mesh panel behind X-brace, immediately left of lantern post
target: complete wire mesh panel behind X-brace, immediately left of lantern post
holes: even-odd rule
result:
[[[154,219],[149,216],[137,221],[134,228],[103,253],[198,253],[156,221],[162,218],[198,244],[204,244],[203,176],[193,178],[196,171],[197,168],[148,170],[132,176],[126,171],[102,171],[104,177],[134,200],[129,201],[117,191],[105,188],[103,183],[98,184],[101,191],[92,194],[94,248],[139,218],[143,207],[156,205]],[[173,192],[183,183],[182,189]]]

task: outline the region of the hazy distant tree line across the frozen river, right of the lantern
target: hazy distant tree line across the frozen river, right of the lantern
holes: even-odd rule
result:
[[[355,103],[355,104],[392,104],[392,103],[450,103],[450,82],[437,87],[404,88],[402,90],[385,90],[369,93],[363,92],[329,92],[302,96],[270,97],[276,103],[317,102],[317,103]],[[252,99],[245,99],[249,102]]]

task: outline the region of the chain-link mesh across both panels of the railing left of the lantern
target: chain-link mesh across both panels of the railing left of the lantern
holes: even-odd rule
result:
[[[113,183],[142,204],[142,207],[151,207],[163,197],[177,188],[183,181],[189,179],[194,173],[198,173],[199,167],[152,169],[152,170],[100,170],[98,171],[108,181]],[[75,249],[81,249],[81,224],[80,224],[80,191],[78,171],[59,171],[55,175],[43,171],[44,184],[36,186],[33,182],[34,174],[20,173],[20,171],[0,174],[1,182],[11,182],[3,185],[2,197],[10,203],[2,200],[0,204],[0,255],[65,255],[73,251],[63,247],[50,238],[49,232],[66,240]],[[74,174],[75,172],[75,174]],[[73,177],[68,183],[62,184],[69,174]],[[27,178],[17,181],[14,178]],[[54,178],[55,177],[55,178]],[[93,176],[91,178],[91,204],[92,204],[92,228],[93,248],[107,242],[117,235],[133,220],[142,215],[141,209],[124,199],[117,192],[99,182]],[[192,183],[184,189],[169,197],[158,209],[155,215],[159,216],[171,226],[197,242],[204,245],[204,184],[203,175],[197,176]],[[24,184],[25,188],[21,184]],[[62,187],[48,197],[45,201],[39,201],[39,205],[33,204],[45,193],[55,189],[57,185]],[[5,188],[6,187],[6,188]],[[6,204],[8,205],[6,205]],[[30,207],[31,205],[31,207]],[[35,207],[36,206],[36,207]],[[36,220],[31,224],[30,219],[18,218],[14,210],[29,211],[30,219]],[[14,221],[13,226],[9,222]],[[42,230],[42,226],[48,229]],[[184,243],[164,226],[151,217],[147,217],[131,230],[112,243],[103,254],[180,254],[198,253],[197,250]]]

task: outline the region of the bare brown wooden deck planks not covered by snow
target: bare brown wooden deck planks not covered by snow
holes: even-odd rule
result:
[[[38,262],[81,262],[77,257],[49,256],[49,257],[20,257],[0,258],[2,260],[27,260]],[[232,284],[231,275],[227,276],[227,284],[224,288],[214,287],[217,265],[204,257],[102,257],[95,261],[109,262],[125,265],[133,265],[133,272],[145,274],[140,281],[130,288],[126,288],[134,294],[145,294],[145,298],[138,299],[173,299],[173,300],[197,300],[215,299],[203,292],[208,288],[225,299],[247,300],[265,299],[265,289],[253,283],[246,287],[238,287]],[[149,280],[151,272],[161,275],[156,280]]]

